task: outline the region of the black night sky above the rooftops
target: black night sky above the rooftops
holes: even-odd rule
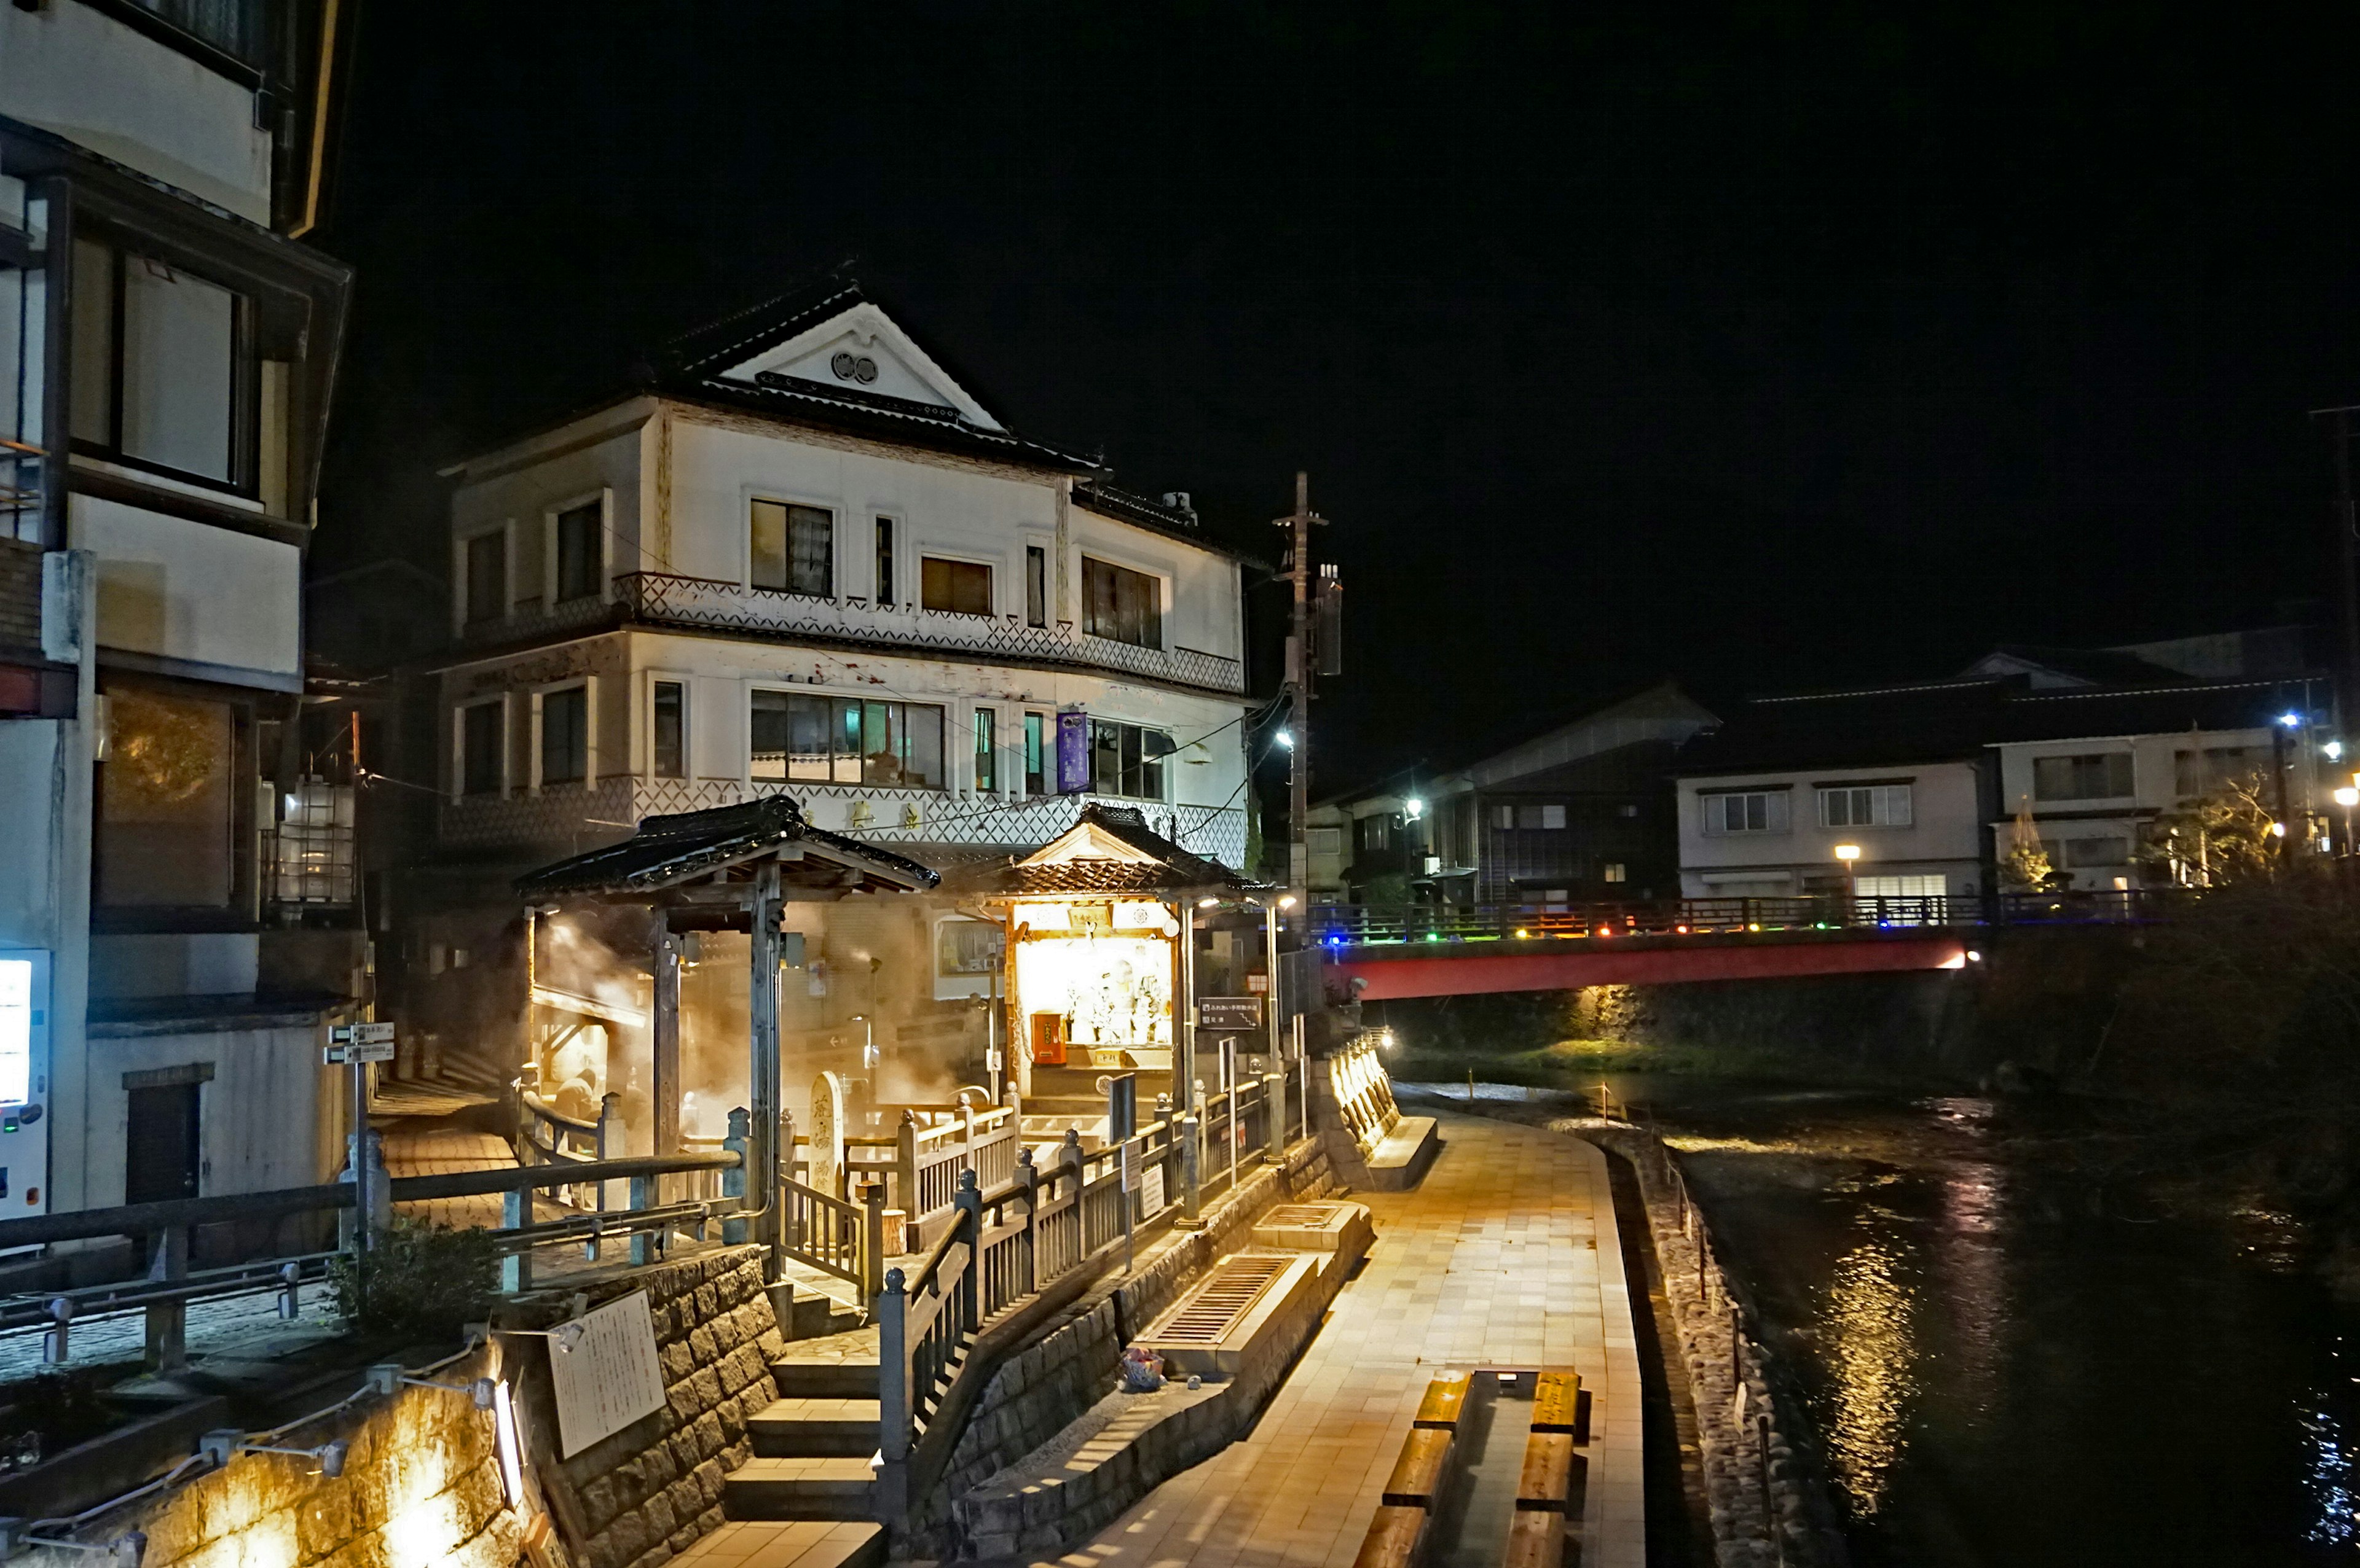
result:
[[[1322,785],[2332,599],[2355,28],[1890,9],[371,0],[316,561],[441,573],[439,462],[857,257],[1265,559],[1312,472]]]

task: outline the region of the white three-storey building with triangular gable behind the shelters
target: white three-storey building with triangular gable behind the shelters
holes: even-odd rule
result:
[[[1185,495],[1123,495],[1012,434],[850,281],[680,340],[642,384],[451,479],[418,901],[441,913],[408,948],[434,1030],[503,1049],[507,879],[647,816],[788,795],[814,828],[942,868],[1107,802],[1246,861],[1239,556]],[[871,983],[883,938],[845,943],[826,962],[857,983],[798,1028],[982,986],[972,955],[935,986]],[[479,974],[453,981],[463,964]]]

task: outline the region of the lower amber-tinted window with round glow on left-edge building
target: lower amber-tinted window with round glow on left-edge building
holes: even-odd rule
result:
[[[97,901],[106,908],[227,908],[236,889],[236,771],[229,703],[111,689],[99,766]]]

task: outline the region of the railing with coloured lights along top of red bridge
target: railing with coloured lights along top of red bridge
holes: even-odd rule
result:
[[[2136,924],[2162,920],[2178,889],[2074,894],[1928,894],[1787,898],[1654,898],[1562,905],[1322,903],[1310,929],[1322,946],[1409,941],[1546,941],[1558,936],[1737,936],[1758,931],[1886,931],[1902,927]]]

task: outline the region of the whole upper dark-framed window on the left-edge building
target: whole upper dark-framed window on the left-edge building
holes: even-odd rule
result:
[[[156,257],[73,243],[73,439],[135,465],[250,486],[245,302]]]

